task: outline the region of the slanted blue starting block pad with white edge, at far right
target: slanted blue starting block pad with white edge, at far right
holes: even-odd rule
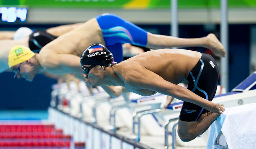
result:
[[[256,89],[256,71],[247,77],[243,82],[238,84],[232,92],[244,92]]]

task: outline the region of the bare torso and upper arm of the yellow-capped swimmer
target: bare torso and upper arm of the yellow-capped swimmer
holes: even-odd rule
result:
[[[80,55],[93,43],[105,45],[95,18],[45,45],[37,56],[38,61],[49,73],[81,73]]]

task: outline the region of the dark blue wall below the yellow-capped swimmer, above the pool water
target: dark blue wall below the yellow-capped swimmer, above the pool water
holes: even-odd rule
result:
[[[51,85],[56,80],[36,75],[33,82],[13,78],[14,73],[0,74],[0,109],[46,110],[50,105]]]

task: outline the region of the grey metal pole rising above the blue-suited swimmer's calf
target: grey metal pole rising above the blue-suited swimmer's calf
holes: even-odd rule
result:
[[[177,0],[171,0],[171,36],[178,37],[178,2]]]

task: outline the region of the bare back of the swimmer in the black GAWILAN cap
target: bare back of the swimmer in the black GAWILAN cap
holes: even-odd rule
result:
[[[119,63],[116,68],[126,71],[123,73],[126,75],[132,72],[131,69],[147,69],[166,81],[178,84],[186,79],[200,58],[200,52],[183,49],[160,49],[134,56]]]

